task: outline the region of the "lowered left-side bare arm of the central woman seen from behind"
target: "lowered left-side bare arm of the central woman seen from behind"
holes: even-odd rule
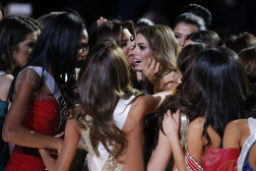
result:
[[[49,171],[68,171],[76,153],[80,137],[76,121],[69,119],[65,128],[65,139],[57,160],[52,158],[45,149],[39,149],[46,168]]]

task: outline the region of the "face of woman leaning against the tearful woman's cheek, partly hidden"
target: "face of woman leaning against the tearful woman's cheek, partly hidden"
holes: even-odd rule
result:
[[[134,47],[135,41],[133,35],[127,28],[124,28],[121,48],[123,50],[127,62],[129,63],[129,66],[134,64]]]

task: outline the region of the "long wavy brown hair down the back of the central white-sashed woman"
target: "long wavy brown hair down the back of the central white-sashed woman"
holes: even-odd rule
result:
[[[125,133],[115,125],[114,109],[120,98],[127,99],[141,93],[132,89],[128,63],[122,49],[113,40],[102,41],[90,50],[79,73],[78,90],[83,110],[76,119],[82,129],[90,128],[90,141],[96,155],[97,145],[101,142],[110,154],[118,157],[127,140]]]

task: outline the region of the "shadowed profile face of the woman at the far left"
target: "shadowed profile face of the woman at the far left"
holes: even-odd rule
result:
[[[37,40],[38,31],[29,33],[25,40],[14,48],[13,57],[17,67],[24,67],[30,60],[32,48]]]

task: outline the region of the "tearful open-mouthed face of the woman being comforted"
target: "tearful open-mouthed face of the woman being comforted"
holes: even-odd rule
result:
[[[137,71],[142,71],[148,64],[149,58],[153,58],[153,51],[150,48],[149,42],[141,33],[136,35],[136,47],[134,51],[136,53],[134,57],[134,68]]]

